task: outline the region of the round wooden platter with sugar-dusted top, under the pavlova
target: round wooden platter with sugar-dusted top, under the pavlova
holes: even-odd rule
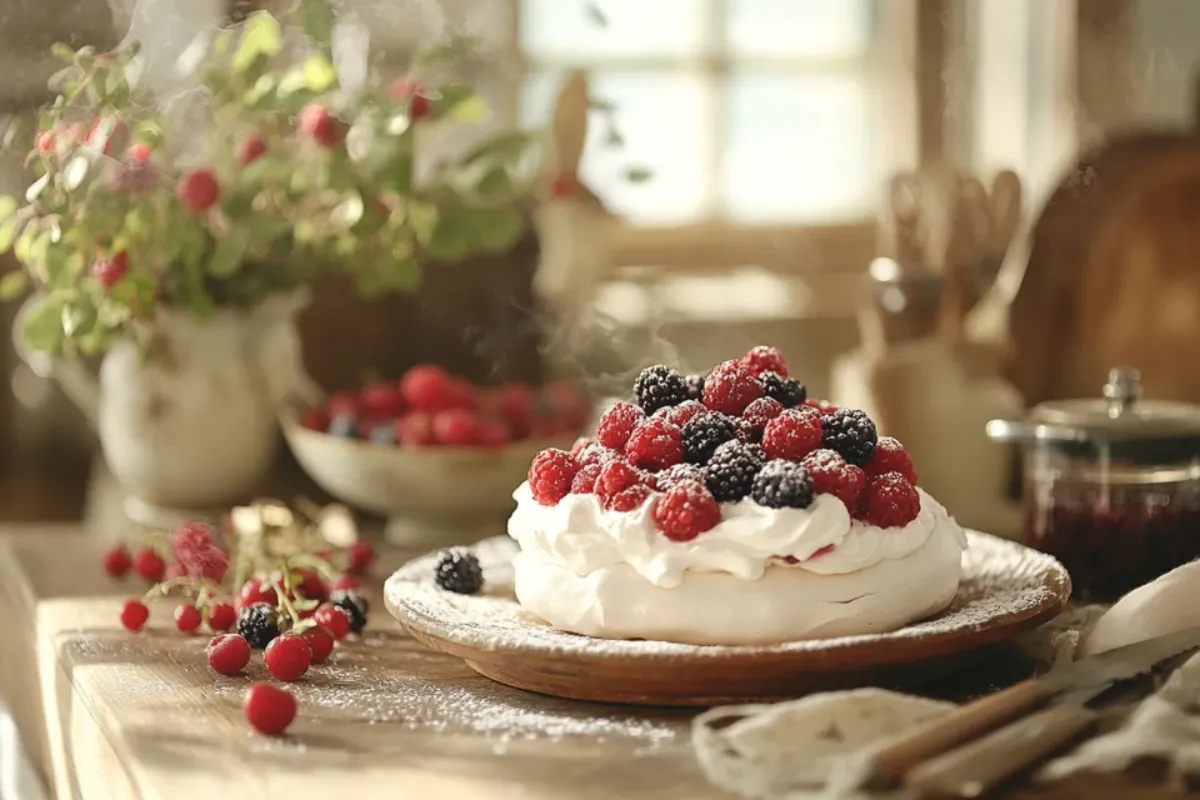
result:
[[[433,553],[396,571],[384,599],[418,640],[496,681],[556,697],[707,706],[864,685],[918,688],[986,657],[985,645],[1051,619],[1070,596],[1070,578],[1051,557],[988,534],[967,536],[950,607],[887,634],[703,646],[557,631],[517,603],[511,570],[517,548],[506,537],[474,548],[486,578],[480,595],[438,589]]]

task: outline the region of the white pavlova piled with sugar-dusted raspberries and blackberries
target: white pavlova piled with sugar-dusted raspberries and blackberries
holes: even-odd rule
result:
[[[809,399],[758,347],[707,377],[644,369],[594,440],[515,494],[521,604],[602,638],[769,644],[946,608],[966,537],[899,441]]]

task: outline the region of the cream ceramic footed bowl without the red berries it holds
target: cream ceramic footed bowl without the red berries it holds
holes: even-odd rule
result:
[[[504,447],[402,447],[310,431],[280,420],[296,461],[337,500],[388,518],[402,543],[472,542],[503,533],[512,492],[546,447],[570,450],[577,435],[514,441]]]

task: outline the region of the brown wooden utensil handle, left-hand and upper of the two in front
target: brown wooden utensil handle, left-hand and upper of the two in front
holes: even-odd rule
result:
[[[1026,680],[917,726],[911,733],[901,734],[875,751],[866,787],[894,787],[918,764],[1012,722],[1049,698],[1050,691],[1045,685]]]

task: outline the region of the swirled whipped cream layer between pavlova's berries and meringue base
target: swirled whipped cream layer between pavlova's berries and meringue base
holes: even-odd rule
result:
[[[662,588],[678,587],[688,571],[757,581],[781,557],[796,559],[793,569],[847,575],[919,551],[940,528],[966,547],[965,534],[946,509],[918,493],[920,512],[900,528],[853,519],[841,500],[820,494],[808,509],[767,509],[749,499],[725,504],[716,527],[690,542],[673,542],[654,527],[649,501],[630,512],[613,512],[593,494],[569,494],[544,506],[522,483],[514,493],[517,507],[509,518],[509,535],[523,552],[575,575],[628,564]]]

